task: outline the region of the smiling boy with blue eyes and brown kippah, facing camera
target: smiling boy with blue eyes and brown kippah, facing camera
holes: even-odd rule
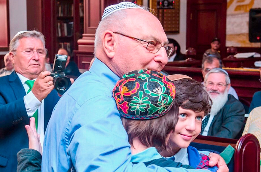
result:
[[[200,82],[186,75],[169,75],[168,78],[176,86],[179,120],[171,133],[167,149],[160,154],[194,168],[199,164],[208,165],[204,160],[208,159],[206,155],[210,152],[198,151],[189,145],[200,134],[202,119],[209,114],[212,101]]]

